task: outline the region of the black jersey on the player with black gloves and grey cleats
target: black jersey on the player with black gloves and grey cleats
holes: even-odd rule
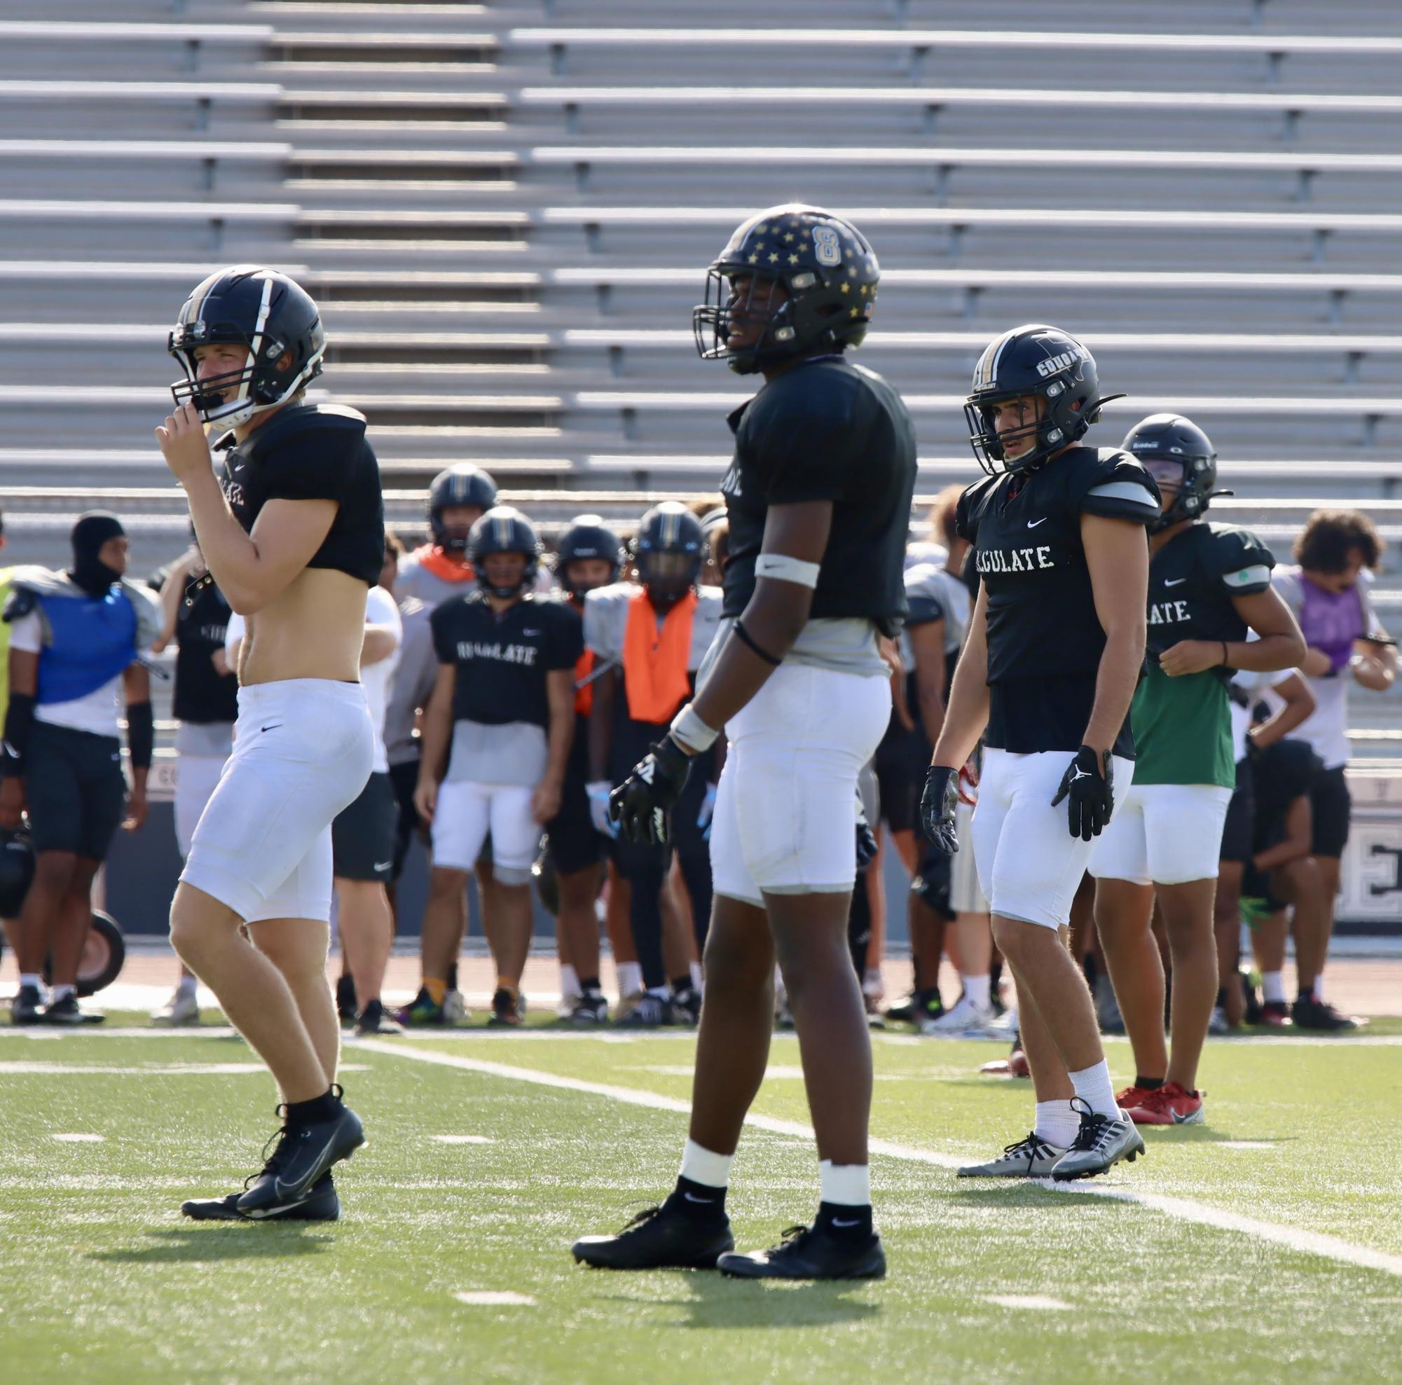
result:
[[[959,498],[959,534],[988,593],[986,744],[1016,754],[1080,747],[1105,650],[1081,516],[1148,524],[1158,502],[1138,461],[1095,447],[1073,447],[1028,477],[986,477]],[[1113,750],[1134,754],[1129,718]]]

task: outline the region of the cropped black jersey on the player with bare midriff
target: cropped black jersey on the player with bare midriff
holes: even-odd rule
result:
[[[335,500],[336,517],[307,566],[334,568],[366,586],[380,580],[380,464],[355,409],[283,409],[224,454],[219,484],[245,533],[268,500]]]

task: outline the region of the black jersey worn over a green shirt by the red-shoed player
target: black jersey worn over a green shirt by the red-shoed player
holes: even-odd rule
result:
[[[1246,638],[1231,599],[1270,586],[1274,554],[1246,528],[1200,521],[1175,534],[1148,566],[1148,656],[1183,639]],[[1224,683],[1231,669],[1213,670]]]

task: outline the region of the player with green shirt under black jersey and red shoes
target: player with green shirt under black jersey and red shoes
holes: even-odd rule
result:
[[[1122,446],[1158,482],[1162,510],[1148,526],[1148,660],[1130,714],[1134,784],[1091,855],[1095,927],[1134,1050],[1134,1084],[1116,1100],[1138,1126],[1186,1126],[1203,1120],[1195,1082],[1217,1001],[1213,899],[1237,786],[1227,685],[1235,669],[1293,669],[1305,643],[1270,587],[1270,550],[1249,530],[1204,519],[1223,493],[1207,435],[1178,414],[1154,414]],[[1155,896],[1173,967],[1172,1053],[1150,929]]]

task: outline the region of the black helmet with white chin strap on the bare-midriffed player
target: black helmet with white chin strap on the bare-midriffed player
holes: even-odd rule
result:
[[[202,422],[231,429],[321,374],[327,338],[315,303],[292,279],[236,265],[196,286],[165,346],[185,371],[171,386],[175,407],[193,404]],[[202,346],[240,346],[247,357],[237,370],[200,378]]]

